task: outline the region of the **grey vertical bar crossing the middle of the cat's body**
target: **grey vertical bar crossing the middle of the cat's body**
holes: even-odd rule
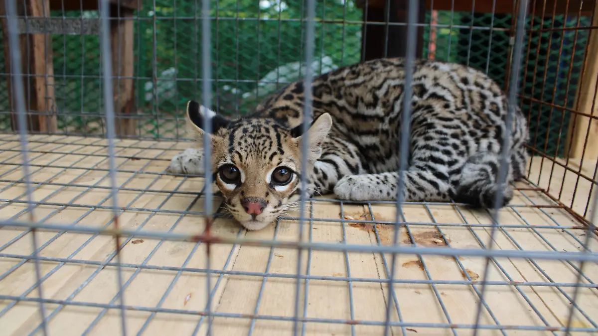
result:
[[[401,143],[399,149],[399,171],[396,188],[396,218],[395,222],[401,221],[402,216],[402,201],[404,200],[405,188],[405,174],[407,170],[407,158],[409,155],[409,141],[411,138],[411,81],[413,80],[413,63],[416,54],[416,32],[417,32],[417,16],[419,11],[419,2],[417,0],[409,0],[408,17],[407,17],[407,54],[405,55],[405,83],[403,84],[403,101],[401,108]],[[395,224],[395,232],[392,244],[396,245],[399,240],[399,225]],[[384,334],[390,334],[390,307],[393,298],[395,287],[393,282],[395,280],[396,272],[396,253],[392,253],[390,264],[390,282],[388,288],[388,298],[386,299],[386,319]]]

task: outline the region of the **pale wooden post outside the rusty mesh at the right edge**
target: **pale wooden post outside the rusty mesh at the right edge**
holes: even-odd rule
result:
[[[596,6],[598,7],[598,5]],[[598,10],[594,8],[594,19],[592,26],[598,25]],[[596,77],[598,76],[598,29],[590,30],[590,38],[587,44],[587,59],[583,69],[583,82],[578,87],[576,111],[587,115],[598,115],[598,94]],[[598,158],[598,120],[583,115],[573,115],[573,123],[569,124],[568,142],[565,148],[569,148],[569,158],[581,158],[595,160]],[[590,126],[588,132],[588,125]],[[587,141],[586,141],[587,138]],[[585,144],[585,154],[584,152]]]

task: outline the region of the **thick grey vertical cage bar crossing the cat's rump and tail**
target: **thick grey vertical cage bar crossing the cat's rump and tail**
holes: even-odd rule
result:
[[[494,200],[494,211],[491,213],[492,217],[492,228],[490,230],[490,241],[488,243],[488,248],[490,251],[494,248],[495,245],[495,234],[498,230],[498,215],[499,215],[499,208],[502,206],[502,198],[504,196],[503,192],[505,187],[507,187],[507,175],[509,172],[510,161],[508,160],[508,155],[510,154],[509,151],[511,149],[511,132],[512,132],[512,121],[513,116],[515,115],[515,109],[517,108],[517,85],[519,84],[519,72],[521,67],[521,56],[523,56],[523,35],[525,32],[525,19],[527,14],[527,0],[521,0],[519,2],[519,8],[517,13],[517,28],[515,30],[515,45],[513,47],[513,57],[511,63],[511,77],[509,78],[509,93],[508,93],[508,112],[507,112],[507,119],[505,125],[505,133],[504,133],[504,140],[502,144],[502,152],[501,152],[501,167],[499,169],[499,176],[498,176],[498,193],[495,195]],[[484,301],[484,294],[486,294],[487,288],[487,278],[490,268],[490,258],[486,258],[486,262],[484,264],[484,271],[482,276],[482,286],[480,290],[480,300],[478,300],[477,304],[477,313],[475,314],[475,326],[474,326],[474,336],[477,336],[479,325],[480,325],[480,318],[481,318],[481,311],[482,311],[482,303]]]

